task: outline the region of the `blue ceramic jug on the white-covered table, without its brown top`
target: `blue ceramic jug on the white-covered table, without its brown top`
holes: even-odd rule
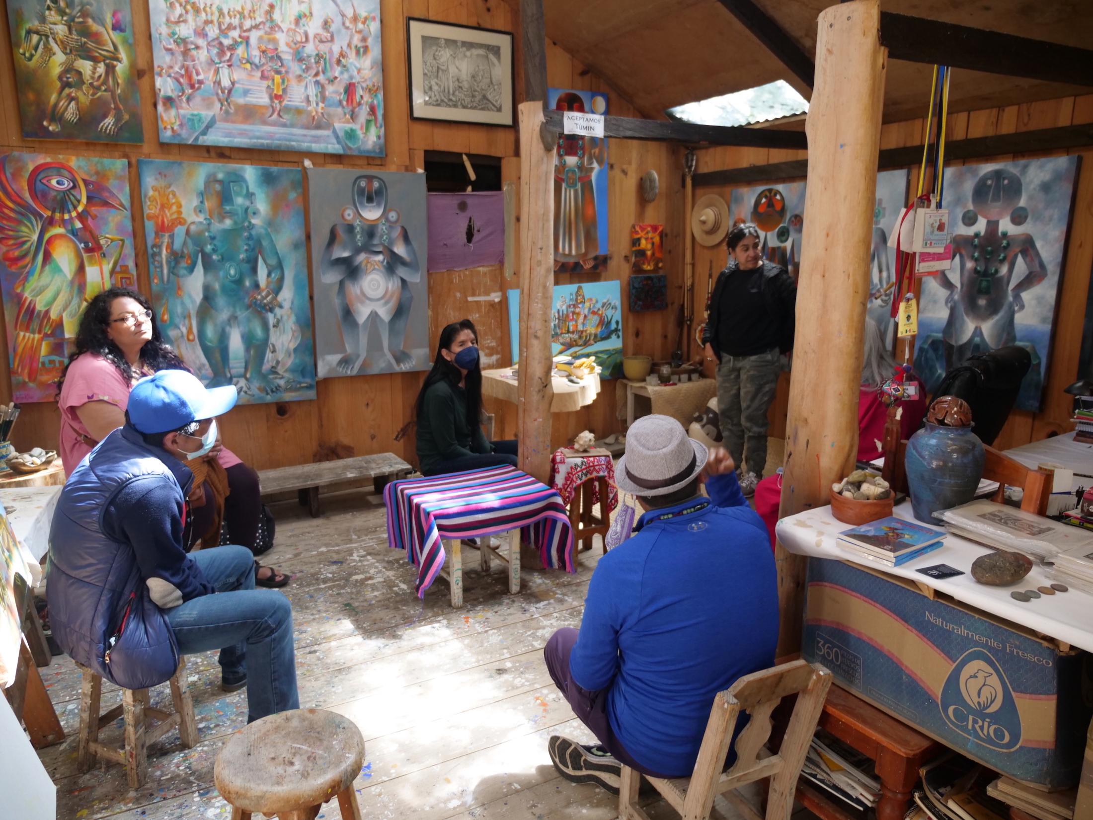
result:
[[[926,422],[907,442],[904,460],[915,517],[924,524],[943,524],[933,513],[972,501],[983,464],[983,442],[972,427]]]

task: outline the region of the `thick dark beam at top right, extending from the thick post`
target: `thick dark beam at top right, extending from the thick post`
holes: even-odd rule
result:
[[[1093,85],[1093,51],[1059,43],[886,11],[881,12],[881,44],[894,60]]]

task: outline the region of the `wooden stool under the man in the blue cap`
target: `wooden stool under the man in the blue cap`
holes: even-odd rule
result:
[[[193,717],[193,701],[186,689],[183,669],[186,659],[180,658],[178,669],[171,676],[171,700],[175,704],[174,713],[152,708],[149,705],[146,689],[122,689],[121,703],[106,714],[99,714],[99,700],[103,694],[103,678],[82,664],[77,667],[83,672],[83,683],[80,687],[80,752],[78,763],[81,772],[89,771],[95,763],[95,758],[110,760],[126,768],[130,788],[140,788],[148,776],[148,747],[166,735],[176,726],[183,739],[183,746],[192,749],[198,742],[198,724]],[[98,730],[116,721],[120,715],[126,718],[126,743],[122,748],[104,746],[98,742]],[[151,723],[149,718],[157,723]]]

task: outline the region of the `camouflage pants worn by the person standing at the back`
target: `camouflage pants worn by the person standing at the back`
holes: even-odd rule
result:
[[[778,388],[784,360],[777,348],[753,356],[721,354],[717,365],[717,411],[725,447],[740,468],[763,478],[766,467],[766,412]]]

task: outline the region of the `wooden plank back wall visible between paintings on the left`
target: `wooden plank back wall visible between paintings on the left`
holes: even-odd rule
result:
[[[152,71],[151,31],[145,0],[132,0],[133,32],[138,44],[138,84],[142,101],[144,126],[143,145],[111,145],[91,142],[59,143],[25,140],[20,129],[16,89],[12,71],[11,38],[7,15],[0,15],[0,152],[60,152],[94,156],[124,157],[130,161],[130,192],[134,206],[133,237],[139,286],[150,292],[148,255],[144,245],[144,220],[137,175],[138,157],[167,160],[222,161],[235,164],[271,164],[301,166],[305,155],[289,151],[252,151],[246,149],[205,148],[161,144],[157,139],[153,108],[154,78]],[[504,0],[381,0],[384,51],[384,107],[387,129],[386,157],[348,157],[308,155],[316,166],[372,167],[386,171],[415,171],[424,167],[428,150],[487,154],[502,157],[506,180],[518,183],[519,160],[515,129],[469,126],[461,124],[413,120],[409,116],[406,63],[406,19],[426,17],[443,22],[477,25],[518,32],[514,5]],[[517,96],[521,95],[520,38],[516,47]],[[587,68],[573,60],[554,44],[548,47],[548,74],[551,85],[604,91],[610,95],[612,114],[636,116],[614,89],[609,89]],[[680,245],[683,227],[682,184],[679,169],[682,154],[674,147],[613,140],[609,149],[609,204],[611,261],[603,274],[593,277],[560,277],[560,283],[597,279],[620,279],[623,288],[623,329],[626,352],[650,353],[665,358],[674,347],[674,308],[681,301],[682,258]],[[639,178],[649,168],[660,175],[661,194],[646,204],[640,199]],[[306,180],[306,177],[305,177]],[[517,196],[517,201],[519,197]],[[630,226],[633,222],[665,222],[667,270],[672,278],[672,306],[669,311],[643,314],[632,320],[626,308],[626,273],[630,249]],[[308,258],[310,251],[308,250]],[[468,302],[467,296],[504,292],[510,285],[503,281],[501,268],[469,272],[430,274],[428,297],[431,328],[471,316],[482,328],[483,352],[498,366],[510,363],[508,327],[504,301]],[[0,318],[2,321],[2,318]],[[9,354],[0,333],[0,401],[10,401],[8,376]],[[239,407],[224,419],[224,441],[257,469],[305,464],[316,459],[392,452],[413,460],[412,435],[393,441],[395,433],[411,418],[414,397],[424,374],[398,374],[331,378],[318,383],[314,401],[293,401]],[[487,402],[490,403],[490,402]],[[501,405],[502,402],[493,402]],[[515,406],[491,407],[497,415],[497,433],[515,435]],[[13,444],[20,449],[31,446],[55,447],[59,415],[52,403],[27,405],[15,429]],[[612,385],[601,398],[581,412],[571,413],[554,425],[559,443],[590,427],[607,434],[621,427],[615,421]]]

